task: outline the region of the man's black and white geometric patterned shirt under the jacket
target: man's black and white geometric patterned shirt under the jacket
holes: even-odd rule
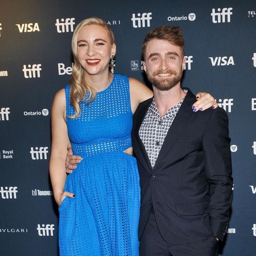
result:
[[[184,92],[187,93],[188,91],[184,90]],[[170,108],[163,117],[159,114],[154,98],[147,110],[146,116],[139,128],[139,138],[142,140],[146,149],[152,168],[154,168],[158,154],[166,138],[166,134],[169,131],[184,98],[176,106]]]

